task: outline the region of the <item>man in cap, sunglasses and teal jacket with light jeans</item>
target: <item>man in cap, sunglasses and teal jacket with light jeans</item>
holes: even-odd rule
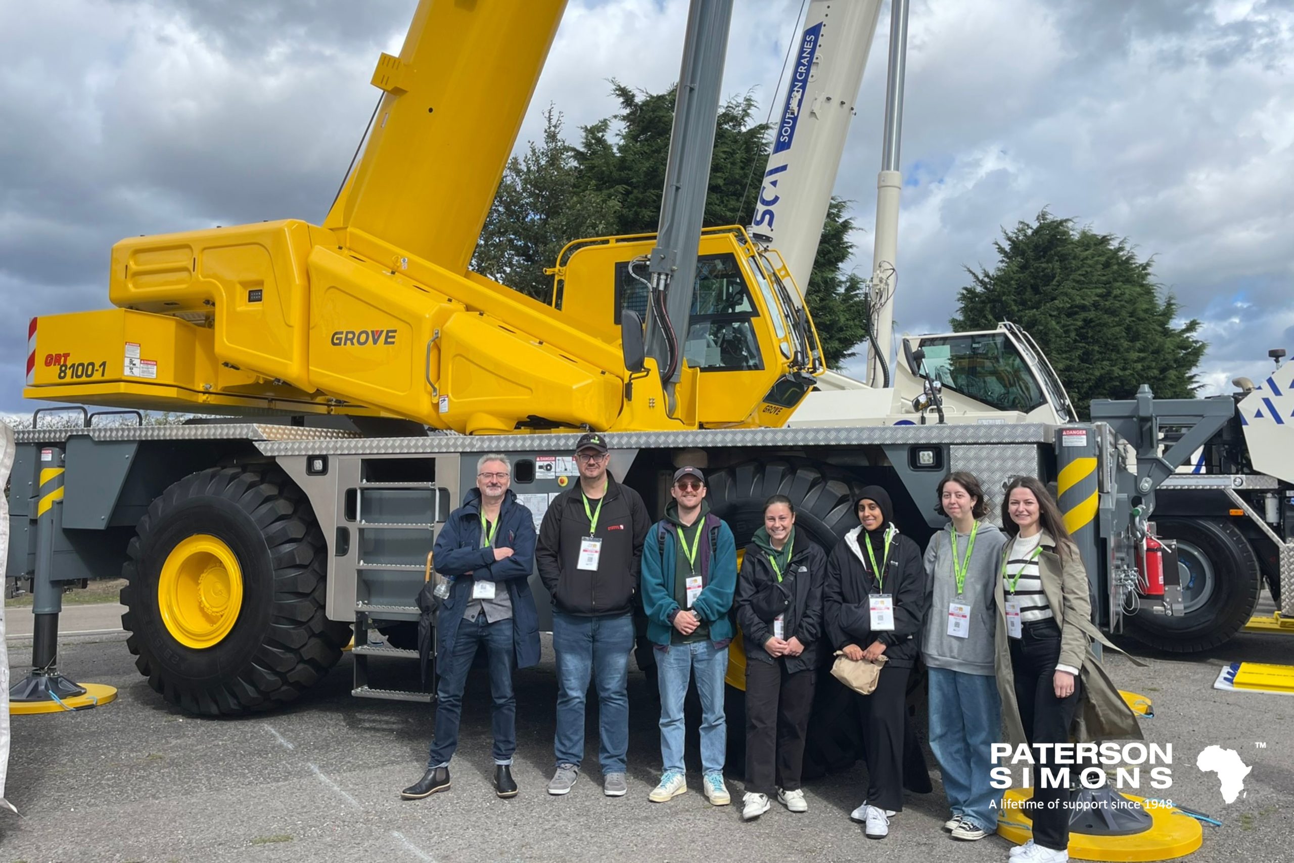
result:
[[[687,792],[683,699],[695,672],[701,696],[701,791],[714,806],[726,806],[732,798],[723,784],[723,677],[732,640],[729,609],[736,590],[736,543],[732,530],[705,502],[700,470],[674,471],[670,494],[674,499],[665,506],[665,518],[647,533],[642,564],[647,638],[656,648],[665,767],[650,800],[664,803]]]

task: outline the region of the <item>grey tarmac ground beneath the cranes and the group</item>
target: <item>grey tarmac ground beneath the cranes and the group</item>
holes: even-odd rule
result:
[[[17,628],[18,609],[10,625]],[[74,631],[65,624],[65,631]],[[10,638],[14,679],[26,673],[30,639]],[[1148,741],[1172,744],[1171,797],[1223,822],[1205,827],[1188,859],[1228,863],[1289,860],[1294,813],[1294,697],[1212,690],[1225,661],[1290,662],[1294,637],[1241,634],[1190,659],[1153,656],[1149,668],[1110,657],[1126,690],[1154,700],[1143,723]],[[633,664],[630,664],[633,666]],[[595,703],[587,754],[572,793],[550,797],[554,670],[545,639],[540,666],[519,672],[518,756],[521,793],[490,788],[489,687],[484,669],[468,682],[453,788],[405,802],[400,788],[422,774],[431,737],[428,705],[351,696],[347,655],[289,709],[239,719],[201,719],[168,706],[135,670],[124,635],[67,637],[60,668],[80,681],[119,688],[114,704],[78,713],[16,716],[6,797],[25,818],[0,813],[0,863],[6,860],[866,860],[894,863],[1007,860],[999,837],[954,842],[938,780],[932,794],[908,794],[890,836],[868,841],[849,820],[866,791],[866,769],[806,785],[809,813],[774,802],[753,823],[734,805],[712,807],[700,775],[688,793],[656,805],[656,708],[648,682],[631,672],[629,794],[602,796]],[[1253,770],[1245,794],[1225,805],[1218,778],[1196,769],[1216,744]],[[1266,744],[1266,748],[1260,748]],[[695,753],[690,766],[699,767]],[[932,766],[934,765],[930,759]],[[937,774],[936,774],[937,776]]]

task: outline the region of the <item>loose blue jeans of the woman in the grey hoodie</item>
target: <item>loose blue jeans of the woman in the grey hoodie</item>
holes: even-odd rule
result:
[[[990,784],[991,744],[1002,736],[998,679],[945,668],[930,673],[930,749],[943,774],[954,815],[987,832],[998,829],[1002,792]]]

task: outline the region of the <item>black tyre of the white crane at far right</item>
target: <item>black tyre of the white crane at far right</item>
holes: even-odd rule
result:
[[[1262,576],[1249,541],[1227,521],[1165,518],[1158,534],[1178,541],[1184,613],[1128,618],[1128,633],[1161,651],[1194,653],[1224,644],[1249,622],[1258,606]]]

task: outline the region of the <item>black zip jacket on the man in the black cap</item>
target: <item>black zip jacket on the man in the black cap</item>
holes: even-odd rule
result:
[[[589,537],[589,516],[585,515],[580,489],[576,480],[575,488],[559,494],[543,515],[534,551],[540,580],[553,595],[553,607],[567,615],[625,615],[633,607],[638,590],[638,562],[651,528],[647,507],[638,492],[621,485],[608,474],[598,532],[594,534],[602,540],[598,568],[580,569],[580,542]],[[589,511],[597,508],[598,502],[589,501]]]

